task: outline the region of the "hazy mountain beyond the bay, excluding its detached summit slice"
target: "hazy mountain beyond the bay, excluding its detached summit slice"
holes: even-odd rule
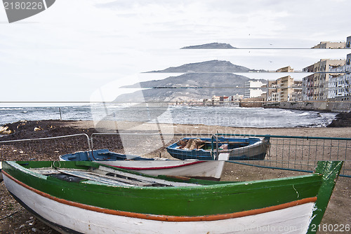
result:
[[[145,88],[137,92],[119,95],[116,102],[176,102],[189,99],[204,99],[217,96],[244,95],[244,83],[251,78],[234,72],[257,71],[232,64],[228,61],[212,60],[169,67],[154,73],[184,73],[162,80],[145,81],[121,88]],[[266,81],[261,80],[263,83]]]

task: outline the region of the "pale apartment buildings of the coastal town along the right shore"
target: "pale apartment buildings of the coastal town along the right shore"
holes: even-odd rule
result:
[[[330,42],[322,41],[312,48],[324,49],[347,49],[350,48],[351,36],[347,37],[347,41]],[[338,111],[350,111],[350,81],[351,81],[351,53],[345,58],[331,60],[322,58],[314,64],[303,68],[300,71],[294,71],[291,66],[282,67],[275,71],[289,74],[282,76],[276,80],[254,80],[246,81],[243,87],[244,95],[233,94],[231,96],[213,95],[204,99],[191,99],[177,104],[190,104],[202,106],[242,106],[242,107],[272,107],[295,109],[294,104],[304,104],[297,109],[321,109],[320,104],[330,103],[322,110],[337,108]],[[301,80],[294,79],[293,73],[306,73],[307,76]],[[346,102],[345,102],[346,101]],[[291,105],[293,104],[293,105]],[[334,106],[334,104],[337,105]]]

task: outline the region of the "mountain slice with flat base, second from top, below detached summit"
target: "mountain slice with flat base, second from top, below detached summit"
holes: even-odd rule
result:
[[[168,67],[160,71],[147,71],[159,73],[187,73],[187,72],[249,72],[258,71],[247,67],[234,65],[229,61],[211,60],[206,62],[196,62],[184,64],[179,67]],[[263,70],[259,70],[263,71]]]

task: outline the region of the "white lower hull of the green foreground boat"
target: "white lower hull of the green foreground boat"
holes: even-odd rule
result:
[[[55,198],[4,175],[10,191],[29,211],[60,233],[306,233],[314,202],[260,214],[214,221],[158,221],[97,212],[93,207]],[[159,215],[161,216],[161,215]],[[158,217],[159,217],[158,216]]]

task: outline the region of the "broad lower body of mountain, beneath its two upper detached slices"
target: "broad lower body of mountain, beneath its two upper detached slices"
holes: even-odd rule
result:
[[[187,73],[159,81],[145,81],[121,88],[147,88],[120,95],[117,102],[176,102],[211,98],[213,95],[244,95],[244,83],[251,80],[232,73]],[[265,82],[262,80],[262,82]],[[236,88],[238,87],[238,88]]]

